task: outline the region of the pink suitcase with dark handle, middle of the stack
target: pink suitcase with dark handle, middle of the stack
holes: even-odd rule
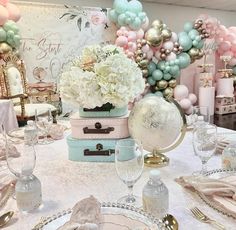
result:
[[[129,137],[129,114],[111,118],[84,118],[79,113],[70,117],[71,137],[77,139],[119,139]]]

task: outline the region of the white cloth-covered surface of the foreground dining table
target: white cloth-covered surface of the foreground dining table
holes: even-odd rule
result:
[[[218,132],[232,130],[218,128]],[[50,217],[63,210],[72,208],[78,201],[93,195],[101,202],[117,202],[128,193],[127,186],[119,179],[115,163],[110,162],[77,162],[68,160],[66,138],[48,145],[36,145],[36,167],[34,175],[41,181],[42,205],[30,213],[18,211],[16,200],[11,197],[0,214],[14,211],[13,219],[4,230],[30,230],[42,217]],[[192,132],[188,131],[181,144],[174,150],[165,153],[169,165],[158,168],[161,180],[169,190],[169,211],[178,221],[180,230],[216,229],[208,223],[195,219],[190,212],[191,207],[198,207],[210,218],[223,224],[227,230],[236,229],[236,220],[208,206],[197,194],[189,193],[175,182],[175,178],[192,175],[201,169],[201,161],[194,154]],[[214,155],[207,163],[208,170],[221,168],[221,155]],[[134,185],[134,194],[142,196],[142,189],[153,168],[144,167],[140,179]],[[10,172],[9,172],[10,173]],[[54,229],[52,229],[54,230]],[[55,229],[56,230],[56,229]]]

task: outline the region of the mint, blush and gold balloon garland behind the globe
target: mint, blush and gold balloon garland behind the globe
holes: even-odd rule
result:
[[[202,19],[184,24],[176,34],[161,20],[148,29],[148,17],[138,0],[115,0],[108,13],[120,29],[115,44],[142,69],[152,93],[173,97],[180,70],[204,56],[204,39],[209,37]]]

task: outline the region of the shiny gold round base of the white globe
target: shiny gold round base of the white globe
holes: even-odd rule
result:
[[[144,163],[149,167],[164,167],[169,164],[169,158],[154,149],[144,156]]]

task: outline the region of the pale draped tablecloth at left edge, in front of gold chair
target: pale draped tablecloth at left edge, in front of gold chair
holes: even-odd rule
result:
[[[2,124],[7,132],[18,127],[11,100],[0,100],[0,125]]]

